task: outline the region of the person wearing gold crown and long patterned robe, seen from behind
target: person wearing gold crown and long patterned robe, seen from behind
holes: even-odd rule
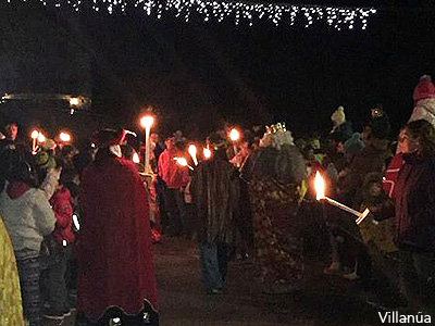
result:
[[[306,177],[291,133],[277,124],[260,140],[249,179],[256,258],[266,292],[298,289],[303,271],[298,186]]]

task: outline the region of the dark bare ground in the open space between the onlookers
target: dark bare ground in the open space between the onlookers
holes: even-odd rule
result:
[[[156,249],[160,324],[165,325],[380,325],[374,308],[363,301],[358,287],[347,280],[323,275],[323,263],[310,259],[300,294],[265,294],[256,281],[250,261],[229,265],[227,289],[208,296],[200,281],[196,242],[164,238]],[[59,323],[47,323],[47,326]],[[74,316],[63,322],[74,325]]]

